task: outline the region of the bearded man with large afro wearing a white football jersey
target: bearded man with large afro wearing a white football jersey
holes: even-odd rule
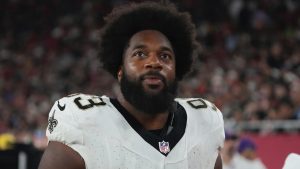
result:
[[[75,94],[49,114],[39,169],[222,168],[221,112],[200,99],[174,99],[189,71],[195,27],[172,4],[115,9],[101,32],[99,57],[115,76],[116,99]]]

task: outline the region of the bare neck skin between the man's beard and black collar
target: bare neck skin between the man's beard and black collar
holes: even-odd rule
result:
[[[117,100],[146,130],[162,129],[168,120],[168,111],[150,115],[136,109],[122,94],[117,97]]]

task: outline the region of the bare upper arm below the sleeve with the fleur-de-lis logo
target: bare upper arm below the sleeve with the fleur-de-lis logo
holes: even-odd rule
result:
[[[38,169],[85,169],[83,158],[63,143],[50,141]]]

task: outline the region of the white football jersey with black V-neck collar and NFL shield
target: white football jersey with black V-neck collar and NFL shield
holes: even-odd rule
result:
[[[203,99],[176,102],[173,130],[157,136],[113,99],[76,94],[56,101],[46,134],[77,151],[87,169],[213,169],[225,137],[221,112]]]

